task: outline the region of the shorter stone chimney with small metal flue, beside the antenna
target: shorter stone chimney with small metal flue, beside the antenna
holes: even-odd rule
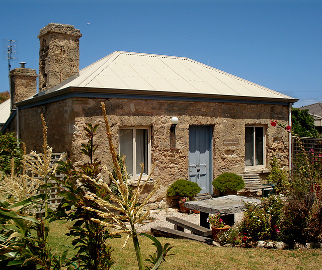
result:
[[[10,70],[10,114],[12,114],[12,112],[16,109],[15,104],[17,102],[21,102],[35,95],[36,93],[37,73],[35,69],[18,67]]]

